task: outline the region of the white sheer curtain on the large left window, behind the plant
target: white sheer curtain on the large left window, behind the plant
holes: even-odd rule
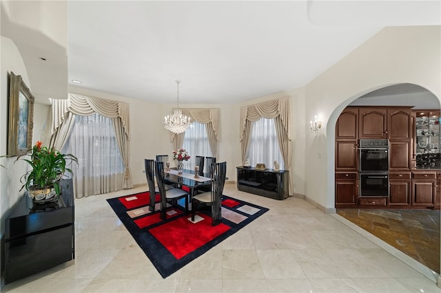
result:
[[[111,118],[75,116],[62,152],[79,160],[78,169],[72,168],[77,198],[121,189],[125,166]]]

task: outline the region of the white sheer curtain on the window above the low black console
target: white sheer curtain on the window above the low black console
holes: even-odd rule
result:
[[[274,169],[274,161],[277,161],[280,169],[285,168],[274,119],[260,118],[252,122],[248,155],[251,166],[264,163],[268,169]]]

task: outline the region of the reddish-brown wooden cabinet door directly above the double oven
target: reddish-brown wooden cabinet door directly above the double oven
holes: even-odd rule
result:
[[[360,107],[359,115],[360,138],[387,138],[385,108]]]

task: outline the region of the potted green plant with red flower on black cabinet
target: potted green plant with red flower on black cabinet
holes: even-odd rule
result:
[[[20,155],[17,160],[28,162],[32,168],[21,176],[21,189],[26,188],[30,197],[37,201],[59,196],[61,178],[66,171],[72,173],[67,166],[72,162],[78,162],[74,155],[42,146],[41,141],[37,141],[25,158],[23,156]]]

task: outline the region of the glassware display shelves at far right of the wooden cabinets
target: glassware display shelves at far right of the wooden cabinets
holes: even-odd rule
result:
[[[416,112],[416,155],[440,153],[440,111]]]

